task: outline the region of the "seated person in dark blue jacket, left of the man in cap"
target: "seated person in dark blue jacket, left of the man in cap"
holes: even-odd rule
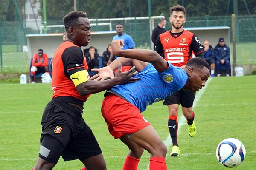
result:
[[[210,45],[208,40],[204,40],[203,44],[203,55],[204,55],[204,60],[208,62],[208,64],[211,66],[211,77],[214,77],[214,71],[215,71],[215,53],[214,53],[214,48],[212,45]]]

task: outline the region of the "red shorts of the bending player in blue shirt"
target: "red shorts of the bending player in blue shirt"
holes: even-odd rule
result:
[[[137,107],[114,94],[108,94],[105,97],[101,111],[108,125],[109,133],[115,139],[151,125],[144,119]]]

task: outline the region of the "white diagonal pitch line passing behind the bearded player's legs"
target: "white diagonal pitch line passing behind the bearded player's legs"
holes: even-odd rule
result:
[[[205,84],[204,88],[202,88],[200,91],[198,91],[198,93],[196,94],[195,96],[195,100],[194,100],[194,103],[193,103],[193,108],[196,107],[197,105],[197,102],[199,101],[199,99],[201,98],[202,94],[204,93],[204,90],[207,88],[207,85],[209,84],[209,82],[212,80],[212,78],[209,78],[207,83]],[[180,129],[183,125],[186,124],[186,118],[182,115],[178,121],[178,125],[179,125],[179,128],[178,128],[178,133],[177,135],[180,134]],[[171,136],[170,134],[168,134],[167,136],[167,139],[165,141],[163,141],[163,143],[166,145],[167,147],[167,150],[169,150],[169,148],[172,146],[172,143],[171,143]],[[189,153],[187,153],[189,156]],[[182,156],[185,155],[185,153],[182,154]],[[166,155],[166,158],[168,157],[168,155]],[[148,167],[145,169],[145,170],[149,170],[149,164],[148,164]]]

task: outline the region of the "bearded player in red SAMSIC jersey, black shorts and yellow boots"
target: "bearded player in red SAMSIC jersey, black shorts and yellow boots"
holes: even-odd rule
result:
[[[203,47],[195,34],[183,29],[183,23],[186,22],[186,10],[183,6],[177,5],[170,8],[170,22],[172,29],[157,38],[156,51],[158,54],[164,52],[165,59],[172,65],[184,68],[189,59],[192,58],[192,52],[196,57],[203,57]],[[163,105],[169,109],[168,128],[172,138],[172,156],[179,156],[180,149],[177,141],[178,131],[178,108],[182,106],[182,112],[189,125],[188,131],[191,137],[195,136],[196,127],[194,122],[194,112],[192,111],[195,99],[195,91],[180,90],[164,100]]]

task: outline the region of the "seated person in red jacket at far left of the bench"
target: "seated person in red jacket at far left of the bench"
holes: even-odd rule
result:
[[[48,56],[42,49],[38,49],[38,53],[33,56],[32,67],[30,68],[30,75],[33,77],[33,82],[35,82],[35,74],[48,73]]]

